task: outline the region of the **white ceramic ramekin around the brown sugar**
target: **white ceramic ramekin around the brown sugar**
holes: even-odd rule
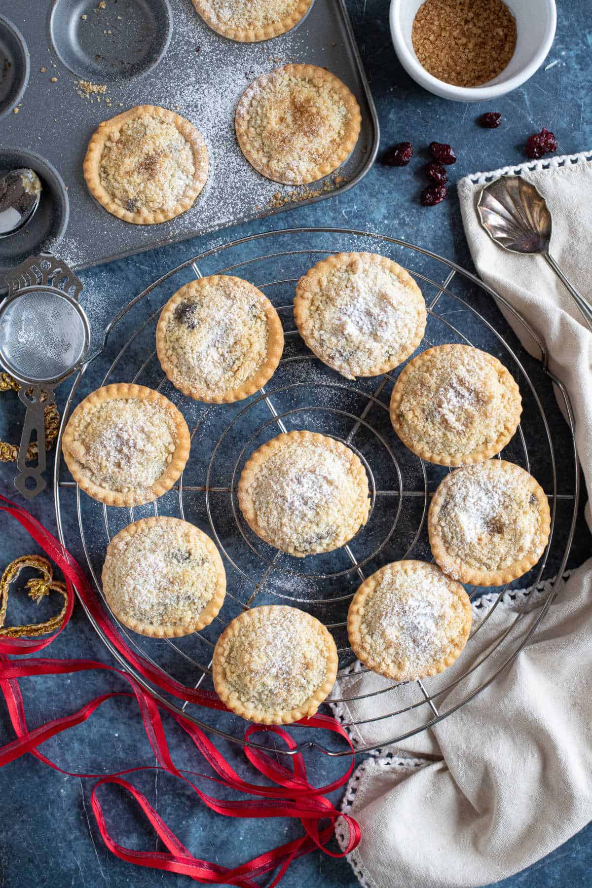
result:
[[[504,0],[516,17],[517,43],[512,59],[500,75],[483,86],[452,86],[428,74],[415,55],[411,29],[422,0],[391,0],[391,38],[407,74],[416,83],[443,99],[480,102],[496,99],[517,89],[532,77],[546,58],[556,28],[555,0]]]

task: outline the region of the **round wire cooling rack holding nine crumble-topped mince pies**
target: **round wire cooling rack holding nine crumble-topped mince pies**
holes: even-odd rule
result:
[[[446,672],[405,685],[381,679],[376,686],[372,679],[369,693],[361,693],[360,676],[367,670],[355,662],[347,639],[349,602],[359,583],[383,564],[404,558],[431,560],[427,509],[431,493],[450,470],[424,463],[392,431],[389,396],[399,369],[383,377],[349,382],[314,357],[296,330],[292,300],[300,276],[331,253],[361,250],[399,261],[419,283],[428,306],[428,324],[419,351],[446,342],[478,345],[494,353],[517,379],[523,396],[523,421],[501,456],[533,473],[549,496],[551,507],[547,550],[520,581],[525,587],[545,583],[550,591],[543,605],[536,610],[517,608],[516,615],[505,622],[499,636],[490,640],[482,653],[467,656],[469,665],[458,670],[454,680],[446,678]],[[154,330],[162,305],[183,283],[206,274],[245,277],[272,300],[284,326],[286,346],[276,373],[260,392],[235,404],[206,405],[185,398],[170,385],[155,353]],[[541,361],[525,352],[495,303],[524,326],[541,351]],[[81,493],[74,481],[59,479],[62,432],[75,400],[79,400],[77,393],[87,381],[92,381],[91,388],[122,381],[149,385],[166,394],[184,413],[192,432],[191,456],[176,487],[154,503],[127,510],[107,508]],[[563,402],[567,424],[559,419],[552,384]],[[549,412],[556,420],[551,424]],[[236,500],[236,486],[246,459],[265,440],[292,429],[322,432],[351,447],[367,470],[371,491],[370,516],[358,535],[340,550],[306,559],[267,546],[250,530]],[[60,540],[86,563],[106,618],[163,678],[176,678],[187,688],[212,687],[211,654],[227,622],[254,605],[287,603],[301,607],[334,634],[340,671],[331,702],[359,752],[402,741],[436,725],[480,693],[517,656],[556,595],[553,578],[561,577],[567,562],[579,491],[579,464],[567,393],[549,373],[539,337],[516,310],[477,277],[430,250],[385,235],[331,228],[284,229],[229,242],[188,259],[142,290],[115,315],[99,350],[75,377],[59,429],[54,470]],[[108,541],[130,521],[150,514],[175,515],[201,527],[214,538],[225,561],[224,607],[208,627],[185,638],[145,638],[127,630],[111,614],[102,594],[99,577]],[[471,632],[469,651],[478,644],[479,633],[502,601],[508,601],[512,590],[506,584],[495,590],[467,587],[467,591],[473,601],[488,593],[485,617]],[[261,742],[244,740],[245,723],[233,713],[204,710],[186,701],[179,706],[156,679],[151,683],[138,674],[88,611],[87,615],[111,653],[142,686],[170,710],[182,711],[204,730],[235,743],[286,755],[305,747],[332,757],[349,753],[349,749],[324,745],[318,733],[297,726],[292,730],[296,734],[304,730],[306,739],[302,740],[301,733],[296,735],[296,740],[301,740],[296,749],[276,749],[268,745],[272,744],[268,735]],[[355,715],[348,720],[351,712]]]

